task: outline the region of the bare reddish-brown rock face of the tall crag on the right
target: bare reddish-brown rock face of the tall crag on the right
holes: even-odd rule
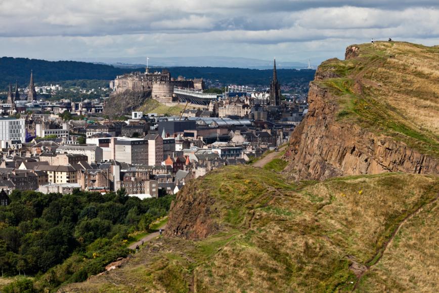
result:
[[[346,49],[346,59],[359,56],[359,47]],[[334,60],[330,60],[334,61]],[[335,71],[335,70],[334,70]],[[392,137],[376,134],[361,123],[339,119],[339,97],[319,81],[338,78],[319,68],[309,91],[309,112],[293,132],[285,169],[296,179],[322,180],[334,176],[405,172],[439,174],[437,158],[408,147]],[[355,80],[361,91],[362,80]]]

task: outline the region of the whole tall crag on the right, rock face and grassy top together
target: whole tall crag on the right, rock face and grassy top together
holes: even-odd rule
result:
[[[309,112],[290,139],[286,173],[439,174],[438,64],[438,47],[407,43],[350,46],[344,61],[322,63]]]

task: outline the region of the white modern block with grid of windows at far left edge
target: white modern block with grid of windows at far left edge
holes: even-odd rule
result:
[[[0,118],[0,142],[2,148],[8,148],[11,144],[25,142],[24,119],[11,117]]]

